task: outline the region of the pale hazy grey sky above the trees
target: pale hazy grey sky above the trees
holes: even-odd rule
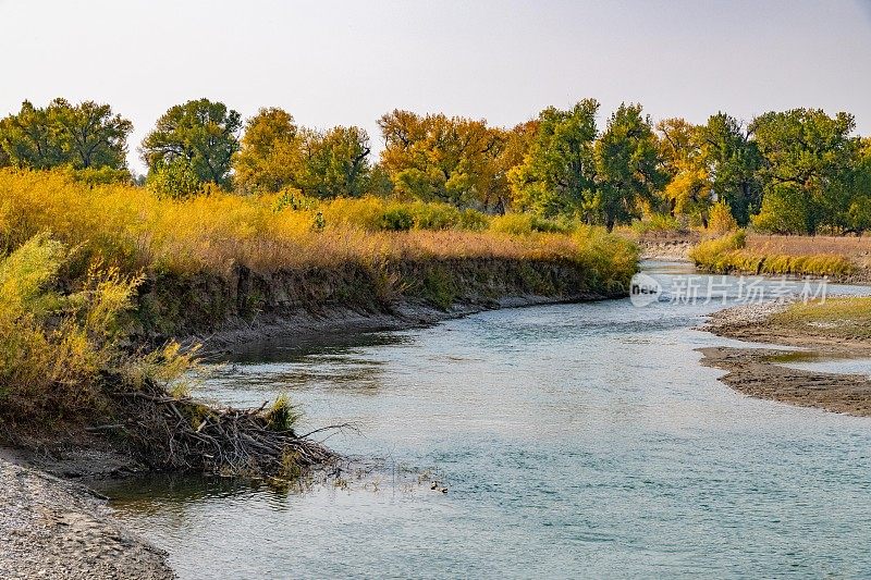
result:
[[[602,119],[821,108],[871,135],[871,0],[0,0],[0,116],[21,101],[108,102],[136,148],[173,104],[306,126],[393,109],[513,126],[593,97]]]

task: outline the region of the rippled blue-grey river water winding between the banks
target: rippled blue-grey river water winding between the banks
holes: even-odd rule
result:
[[[665,288],[691,273],[645,270]],[[732,304],[744,282],[723,282]],[[300,431],[353,422],[327,443],[368,474],[109,493],[182,578],[871,575],[871,420],[720,383],[695,349],[733,342],[691,328],[723,307],[542,306],[257,345],[197,394],[289,393]]]

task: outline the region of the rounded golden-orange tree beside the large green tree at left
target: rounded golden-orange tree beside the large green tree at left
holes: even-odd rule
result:
[[[236,186],[245,193],[275,193],[298,187],[303,136],[293,115],[278,108],[260,109],[245,123],[241,148],[233,157]]]

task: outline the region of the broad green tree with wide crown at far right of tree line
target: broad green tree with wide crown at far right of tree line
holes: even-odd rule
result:
[[[821,226],[849,227],[861,141],[848,113],[818,109],[764,113],[752,132],[762,156],[764,199],[753,224],[813,235]]]

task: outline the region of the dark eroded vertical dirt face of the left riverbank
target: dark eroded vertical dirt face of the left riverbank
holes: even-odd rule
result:
[[[628,276],[560,260],[456,259],[162,276],[140,289],[136,335],[207,351],[277,336],[400,330],[494,308],[616,298]]]

